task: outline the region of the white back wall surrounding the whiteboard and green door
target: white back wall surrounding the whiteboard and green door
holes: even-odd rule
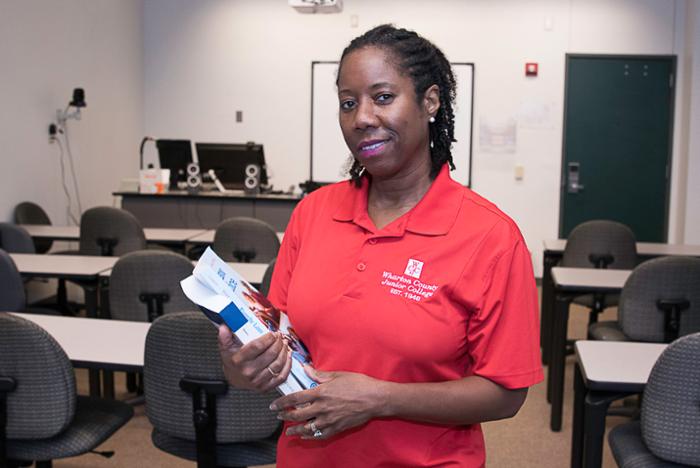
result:
[[[476,64],[473,187],[518,222],[538,271],[542,239],[558,233],[565,54],[683,54],[686,48],[678,40],[687,36],[686,25],[677,20],[684,18],[685,0],[344,3],[341,14],[302,15],[284,1],[146,0],[146,132],[263,142],[272,182],[286,188],[308,177],[310,62],[336,60],[352,37],[379,23],[415,29],[451,61]],[[350,26],[352,15],[358,28]],[[527,61],[539,63],[538,78],[523,76]],[[697,212],[689,198],[698,198],[700,184],[688,182],[686,203],[686,184],[678,183],[685,182],[685,171],[677,169],[691,154],[693,180],[700,179],[697,149],[682,151],[680,144],[688,132],[698,133],[699,108],[694,106],[695,122],[686,133],[676,122],[681,141],[674,145],[669,230],[676,242],[684,240],[678,227]],[[236,110],[243,111],[243,123],[235,123]],[[515,153],[481,151],[480,122],[500,123],[533,110],[542,118],[519,125]],[[518,164],[525,168],[523,181],[514,178]],[[686,224],[686,242],[700,243],[697,223]]]

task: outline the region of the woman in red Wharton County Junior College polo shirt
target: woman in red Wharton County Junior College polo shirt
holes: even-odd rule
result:
[[[529,252],[450,179],[455,81],[439,49],[379,26],[345,49],[337,85],[351,181],[299,204],[270,289],[320,383],[273,402],[277,466],[482,466],[478,423],[515,415],[542,379]],[[235,386],[289,373],[278,335],[219,340]]]

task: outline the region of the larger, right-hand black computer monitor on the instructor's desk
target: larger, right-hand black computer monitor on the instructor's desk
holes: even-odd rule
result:
[[[260,184],[267,185],[267,167],[263,146],[256,143],[195,143],[202,174],[214,169],[224,187],[242,190],[245,167],[260,167]]]

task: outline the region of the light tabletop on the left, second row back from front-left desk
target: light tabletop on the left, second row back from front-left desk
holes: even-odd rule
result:
[[[96,277],[114,266],[119,257],[90,255],[10,254],[23,275],[47,277]]]

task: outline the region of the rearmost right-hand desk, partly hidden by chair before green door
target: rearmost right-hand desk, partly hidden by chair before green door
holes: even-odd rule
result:
[[[552,267],[556,266],[564,254],[566,239],[545,239],[542,257],[542,305],[540,314],[540,347],[542,363],[549,364],[550,333],[552,323]],[[700,245],[662,244],[655,242],[637,242],[637,256],[640,261],[666,255],[684,255],[700,257]]]

